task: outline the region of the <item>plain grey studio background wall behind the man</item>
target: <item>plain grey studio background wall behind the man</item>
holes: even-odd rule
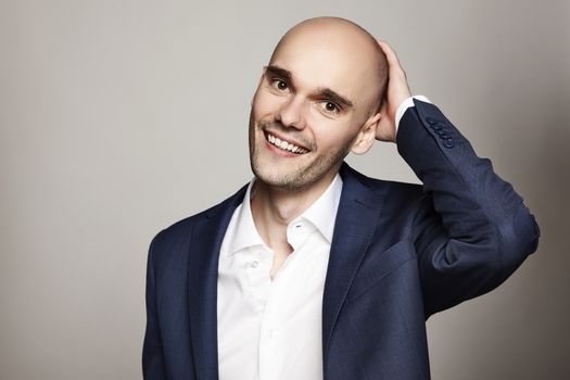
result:
[[[148,244],[251,178],[262,66],[316,15],[390,41],[542,227],[503,287],[429,320],[433,378],[569,378],[568,1],[1,0],[1,379],[141,377]],[[417,181],[394,145],[349,161]]]

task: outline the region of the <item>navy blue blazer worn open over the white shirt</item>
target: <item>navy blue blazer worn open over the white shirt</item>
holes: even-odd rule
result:
[[[534,217],[512,187],[438,107],[415,104],[397,149],[422,186],[340,170],[322,300],[326,380],[429,379],[426,319],[497,287],[537,246]],[[144,379],[218,379],[218,254],[244,193],[153,239]]]

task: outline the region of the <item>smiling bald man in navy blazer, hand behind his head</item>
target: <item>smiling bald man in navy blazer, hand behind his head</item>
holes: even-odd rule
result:
[[[255,178],[151,243],[147,379],[430,377],[425,320],[503,282],[539,229],[422,99],[349,21],[283,36],[252,101]],[[375,140],[423,185],[343,162]]]

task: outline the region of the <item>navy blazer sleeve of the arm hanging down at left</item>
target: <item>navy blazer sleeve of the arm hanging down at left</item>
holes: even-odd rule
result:
[[[151,242],[147,263],[147,329],[142,345],[142,377],[145,380],[166,379],[166,367],[162,347],[159,320],[156,316],[156,288],[154,275],[154,246],[160,239],[159,233]]]

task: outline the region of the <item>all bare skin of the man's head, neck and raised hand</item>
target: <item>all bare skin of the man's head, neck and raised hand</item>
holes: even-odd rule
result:
[[[346,154],[366,153],[375,139],[395,141],[394,115],[407,97],[393,50],[352,22],[312,18],[281,38],[250,114],[257,178],[251,206],[259,236],[275,253],[271,278],[292,252],[287,225],[322,194]],[[302,154],[275,147],[268,141],[274,137]]]

